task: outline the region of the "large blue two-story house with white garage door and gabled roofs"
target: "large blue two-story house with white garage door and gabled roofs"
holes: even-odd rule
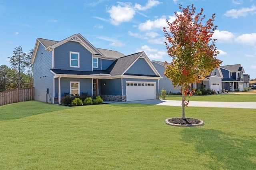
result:
[[[66,94],[121,102],[159,98],[162,77],[143,51],[96,48],[81,34],[60,42],[37,38],[31,63],[37,101],[60,104]]]

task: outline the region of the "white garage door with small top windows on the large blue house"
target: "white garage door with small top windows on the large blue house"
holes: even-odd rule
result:
[[[156,99],[156,82],[126,81],[126,101]]]

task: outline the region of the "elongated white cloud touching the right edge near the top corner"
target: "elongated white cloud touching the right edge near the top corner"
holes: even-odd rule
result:
[[[241,8],[240,10],[228,10],[224,15],[231,18],[238,18],[239,16],[247,16],[248,14],[255,14],[256,6],[252,5],[251,8]]]

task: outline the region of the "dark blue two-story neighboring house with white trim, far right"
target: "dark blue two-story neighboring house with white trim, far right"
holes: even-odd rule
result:
[[[241,64],[220,66],[223,74],[222,88],[228,91],[244,90],[244,68]]]

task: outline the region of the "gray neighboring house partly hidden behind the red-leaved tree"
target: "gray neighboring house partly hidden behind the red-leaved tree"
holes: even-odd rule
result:
[[[156,67],[158,72],[163,76],[163,79],[159,80],[159,87],[160,90],[164,88],[166,91],[177,93],[180,92],[180,89],[174,89],[174,86],[172,85],[172,81],[168,79],[166,76],[164,76],[165,72],[165,65],[162,61],[152,61],[153,65]],[[222,84],[221,80],[223,78],[223,75],[220,71],[220,67],[214,69],[209,76],[205,77],[204,79],[200,79],[200,83],[194,83],[191,85],[191,88],[193,89],[212,89],[216,92],[221,92],[222,90]]]

